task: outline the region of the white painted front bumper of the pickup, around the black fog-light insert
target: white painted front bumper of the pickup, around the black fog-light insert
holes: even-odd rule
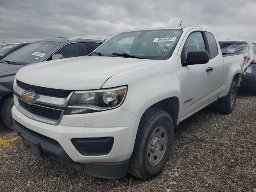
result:
[[[123,162],[130,158],[140,121],[136,115],[119,107],[90,114],[64,115],[59,125],[32,120],[16,106],[12,117],[22,126],[43,136],[56,140],[70,159],[78,163]],[[76,150],[72,138],[113,137],[109,154],[84,156]]]

